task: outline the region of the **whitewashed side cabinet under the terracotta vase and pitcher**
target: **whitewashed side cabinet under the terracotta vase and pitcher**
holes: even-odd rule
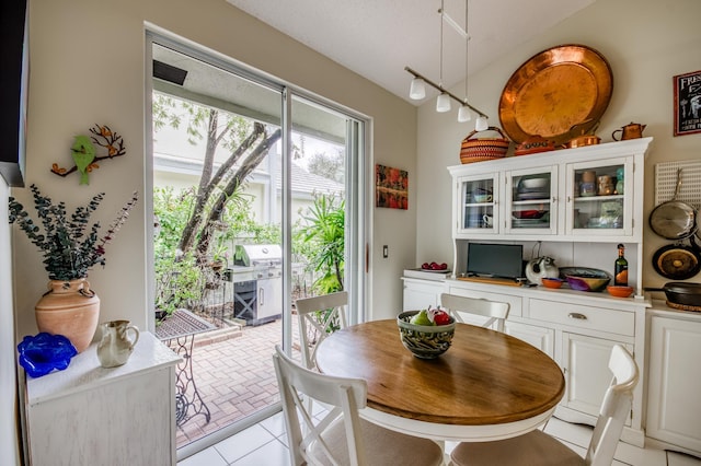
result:
[[[26,380],[33,465],[175,465],[175,364],[141,333],[129,361],[100,365],[96,345],[68,369]]]

